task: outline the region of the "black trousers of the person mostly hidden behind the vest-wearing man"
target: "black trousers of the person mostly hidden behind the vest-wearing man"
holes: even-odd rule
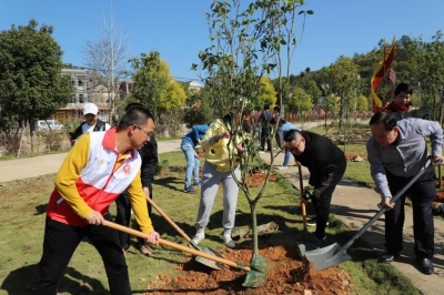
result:
[[[152,199],[152,186],[148,187],[150,190],[150,199]],[[119,223],[123,226],[130,226],[131,222],[131,203],[128,196],[127,191],[124,191],[119,197],[115,200],[117,215],[115,223]],[[148,204],[148,215],[151,217],[151,205]],[[140,231],[139,224],[135,225],[135,228]],[[118,233],[120,245],[123,250],[130,248],[130,235],[123,232]],[[139,244],[144,244],[145,240],[138,237]]]

